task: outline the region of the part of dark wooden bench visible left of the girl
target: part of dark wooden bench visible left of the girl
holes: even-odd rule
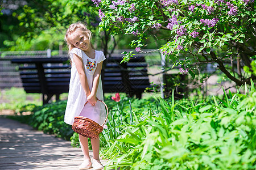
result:
[[[67,57],[11,60],[20,64],[19,74],[24,90],[27,93],[41,93],[43,104],[48,103],[53,95],[59,100],[60,94],[68,92],[71,70],[67,61]]]

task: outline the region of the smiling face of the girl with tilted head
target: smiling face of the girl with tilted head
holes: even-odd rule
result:
[[[80,31],[75,31],[71,34],[71,43],[76,48],[80,48],[84,51],[88,51],[92,48],[88,36]]]

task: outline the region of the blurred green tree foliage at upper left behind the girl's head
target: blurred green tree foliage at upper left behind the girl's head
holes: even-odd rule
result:
[[[85,22],[93,35],[98,35],[96,26],[100,21],[91,1],[28,1],[11,12],[0,16],[3,23],[0,49],[3,46],[4,50],[59,49],[65,43],[68,26],[78,21]]]

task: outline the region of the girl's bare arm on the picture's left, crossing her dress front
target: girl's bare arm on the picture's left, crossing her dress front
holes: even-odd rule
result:
[[[82,62],[82,58],[74,54],[73,61],[75,62],[77,72],[79,73],[79,79],[81,82],[81,86],[84,89],[86,96],[90,95],[90,89],[87,82],[87,76],[84,70],[84,62]]]

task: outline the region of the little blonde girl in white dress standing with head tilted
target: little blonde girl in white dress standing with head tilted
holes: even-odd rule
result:
[[[106,118],[101,83],[102,61],[106,58],[103,52],[93,49],[90,40],[92,32],[81,22],[71,24],[66,32],[65,41],[68,44],[71,57],[71,79],[65,122],[72,125],[76,116],[88,117],[98,124],[103,124]],[[84,106],[86,101],[88,104]],[[79,135],[79,141],[84,154],[84,162],[80,169],[92,168],[89,156],[88,138]],[[93,168],[103,169],[100,162],[100,139],[91,139],[93,148]]]

